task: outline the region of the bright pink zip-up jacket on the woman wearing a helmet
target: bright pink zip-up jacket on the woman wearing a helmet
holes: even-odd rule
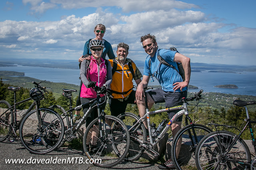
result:
[[[107,68],[105,65],[105,61],[101,58],[102,63],[98,65],[97,61],[95,59],[91,59],[89,68],[86,68],[87,74],[86,77],[90,81],[97,82],[96,86],[102,87],[104,83],[106,83],[106,75],[107,75]],[[96,98],[97,94],[92,88],[86,88],[84,84],[82,84],[81,87],[81,94],[80,96],[82,98]],[[100,94],[100,96],[104,96],[103,94]]]

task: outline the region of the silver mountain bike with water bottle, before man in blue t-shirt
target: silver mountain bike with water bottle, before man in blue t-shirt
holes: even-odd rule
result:
[[[145,88],[144,90],[152,89],[150,87]],[[166,109],[160,109],[155,111],[149,111],[147,98],[145,95],[145,105],[146,105],[146,114],[143,117],[138,117],[133,113],[124,113],[120,114],[118,117],[124,121],[124,123],[128,126],[130,133],[130,149],[128,151],[128,156],[126,156],[126,161],[133,161],[138,159],[144,150],[149,150],[154,154],[154,156],[158,156],[159,153],[154,150],[160,139],[166,134],[166,132],[170,129],[172,123],[176,121],[178,117],[181,115],[185,115],[185,123],[186,126],[180,129],[178,133],[175,135],[172,141],[172,159],[177,169],[182,169],[182,166],[190,164],[190,162],[194,162],[194,151],[196,149],[197,144],[200,139],[204,137],[204,135],[211,132],[211,129],[199,124],[194,124],[193,121],[188,116],[189,111],[187,107],[187,102],[196,100],[198,105],[198,101],[202,98],[201,93],[203,90],[200,90],[194,97],[191,98],[183,98],[182,106],[175,106]],[[170,121],[163,120],[158,127],[154,128],[152,124],[150,124],[150,115],[162,113],[166,111],[172,111],[182,109],[178,113],[176,113]],[[144,127],[143,121],[147,120],[148,123],[148,136],[149,141],[147,139],[146,128]],[[154,125],[154,124],[153,124]],[[155,126],[155,125],[154,125]],[[141,134],[138,134],[138,131]],[[180,146],[180,153],[176,153],[176,148],[179,147],[178,140],[182,140]]]

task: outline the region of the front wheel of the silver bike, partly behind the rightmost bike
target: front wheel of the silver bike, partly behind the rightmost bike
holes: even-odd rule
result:
[[[182,170],[186,166],[196,167],[194,156],[196,146],[205,135],[212,132],[210,128],[204,125],[193,125],[196,137],[192,132],[192,125],[186,125],[178,131],[172,141],[172,160],[178,170]],[[198,143],[196,143],[195,139],[197,139]],[[180,141],[180,143],[178,141]]]

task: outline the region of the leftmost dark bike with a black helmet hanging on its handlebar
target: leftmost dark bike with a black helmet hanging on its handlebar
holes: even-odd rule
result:
[[[43,92],[47,92],[40,83],[32,82],[35,88],[30,90],[30,98],[16,102],[16,92],[20,87],[8,87],[14,92],[14,105],[7,101],[0,101],[0,141],[8,139],[13,142],[16,131],[19,129],[20,142],[34,154],[46,154],[56,149],[62,141],[64,123],[55,111],[49,108],[40,108],[40,100],[44,99]],[[29,109],[17,121],[16,106],[29,100],[34,100]],[[36,109],[32,110],[33,107]],[[10,139],[12,138],[12,139]]]

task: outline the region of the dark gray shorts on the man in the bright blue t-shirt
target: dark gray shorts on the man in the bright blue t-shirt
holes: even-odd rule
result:
[[[174,107],[174,106],[180,106],[182,105],[182,98],[186,98],[188,91],[184,92],[165,92],[162,90],[162,88],[158,88],[155,90],[151,90],[147,92],[152,99],[154,100],[155,103],[164,103],[165,102],[165,107]],[[178,113],[180,109],[173,110],[173,111],[168,111],[168,117],[169,119],[172,119],[172,117]],[[182,121],[182,116],[178,117],[176,121]]]

